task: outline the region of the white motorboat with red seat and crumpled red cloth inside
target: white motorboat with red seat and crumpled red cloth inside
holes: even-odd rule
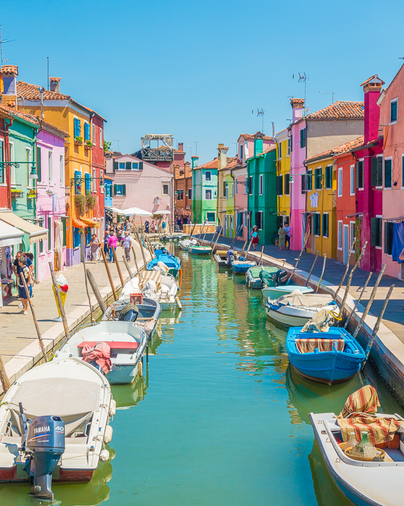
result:
[[[146,330],[136,323],[100,321],[79,327],[56,356],[91,363],[105,373],[110,384],[130,384],[142,372],[147,341]]]

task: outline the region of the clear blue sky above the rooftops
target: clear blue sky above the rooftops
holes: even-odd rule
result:
[[[4,58],[19,79],[60,91],[107,118],[112,148],[133,153],[144,134],[173,134],[199,164],[239,134],[288,125],[292,74],[306,72],[311,112],[363,100],[372,74],[386,85],[404,56],[404,2],[384,0],[20,1],[1,8]],[[119,140],[119,145],[118,141]]]

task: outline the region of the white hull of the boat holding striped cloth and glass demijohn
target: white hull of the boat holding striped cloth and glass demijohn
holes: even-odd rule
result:
[[[398,415],[377,413],[403,422]],[[383,448],[382,462],[349,458],[337,443],[341,436],[335,413],[310,413],[309,418],[325,465],[346,497],[357,506],[399,506],[403,504],[404,427],[400,426],[398,448]]]

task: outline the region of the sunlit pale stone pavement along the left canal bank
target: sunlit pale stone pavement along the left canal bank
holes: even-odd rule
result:
[[[143,266],[143,260],[140,247],[137,243],[135,243],[135,251],[137,265],[141,268]],[[123,280],[126,281],[128,278],[128,271],[122,260],[123,248],[118,247],[116,249],[116,256],[118,257],[119,265],[121,266]],[[132,252],[130,253],[130,258],[130,268],[133,269],[133,272],[135,272],[135,261],[133,260]],[[147,254],[147,261],[149,258],[150,255]],[[111,269],[114,285],[116,289],[118,289],[121,286],[121,281],[119,279],[116,264],[109,263],[108,265]],[[112,289],[109,284],[104,262],[102,260],[98,261],[96,265],[93,264],[93,262],[86,262],[86,267],[93,273],[102,295],[110,295],[112,293]],[[72,330],[77,323],[81,323],[81,321],[87,318],[89,313],[83,264],[68,267],[66,271],[63,271],[63,275],[65,275],[67,283],[69,284],[69,291],[67,292],[65,302],[65,313],[69,323],[69,329]],[[97,305],[90,285],[88,285],[88,288],[90,296],[93,297],[92,304]],[[58,318],[58,308],[53,294],[52,278],[48,278],[41,281],[41,283],[34,285],[33,293],[34,297],[32,298],[32,301],[34,303],[36,318],[39,323],[39,330],[43,335],[44,341],[46,341],[46,339],[50,339],[48,336],[52,335],[51,339],[53,339],[53,342],[55,343],[58,340],[58,335],[63,333],[63,327],[62,323],[53,322],[53,318]],[[32,349],[32,346],[30,345],[34,345],[36,348],[38,343],[31,310],[28,309],[28,314],[24,316],[20,314],[21,308],[18,307],[19,304],[20,299],[11,297],[10,299],[4,299],[4,307],[0,308],[0,354],[4,363],[11,361],[14,357],[20,357],[22,361],[22,357],[29,356],[29,350]],[[50,345],[52,343],[49,341],[48,344]],[[47,346],[47,349],[49,348],[50,346]]]

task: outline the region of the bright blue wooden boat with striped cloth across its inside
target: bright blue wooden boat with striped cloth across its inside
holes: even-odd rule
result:
[[[365,353],[345,329],[302,332],[302,328],[291,327],[286,337],[289,361],[299,374],[331,385],[349,380],[361,368]]]

